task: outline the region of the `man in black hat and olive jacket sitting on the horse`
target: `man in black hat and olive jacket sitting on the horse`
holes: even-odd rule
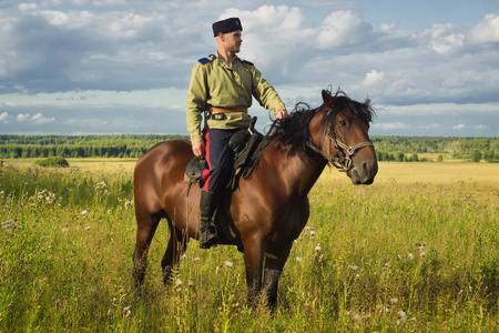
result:
[[[192,70],[189,87],[186,111],[192,151],[194,155],[206,159],[200,180],[202,249],[210,249],[218,242],[213,215],[231,175],[227,143],[232,134],[249,127],[247,109],[252,105],[252,97],[271,110],[276,119],[287,117],[275,89],[253,63],[236,56],[243,42],[242,31],[238,18],[213,23],[218,47],[216,54],[198,60]],[[201,130],[202,113],[205,111],[208,114]]]

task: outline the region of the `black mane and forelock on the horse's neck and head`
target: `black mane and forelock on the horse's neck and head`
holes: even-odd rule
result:
[[[338,90],[333,95],[334,108],[322,120],[322,125],[330,127],[334,124],[336,115],[345,109],[348,109],[354,115],[359,117],[365,122],[371,122],[375,114],[370,107],[370,100],[364,103],[352,100],[345,92]],[[312,109],[307,103],[297,103],[289,117],[282,121],[274,121],[269,133],[264,141],[264,149],[273,144],[276,149],[287,150],[288,154],[298,154],[305,158],[306,143],[310,140],[308,124],[317,114],[323,105]]]

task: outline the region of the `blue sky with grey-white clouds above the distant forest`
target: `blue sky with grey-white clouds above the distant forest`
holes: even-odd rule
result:
[[[342,88],[373,135],[499,135],[497,0],[0,0],[0,133],[186,134],[191,70],[233,16],[288,110]]]

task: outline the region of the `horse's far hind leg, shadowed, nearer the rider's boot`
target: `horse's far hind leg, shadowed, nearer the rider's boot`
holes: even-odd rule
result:
[[[163,283],[167,284],[172,279],[172,272],[179,266],[180,258],[187,249],[189,236],[169,221],[170,241],[164,253],[161,266],[163,269]]]

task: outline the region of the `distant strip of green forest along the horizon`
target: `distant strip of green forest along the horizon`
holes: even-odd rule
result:
[[[0,134],[0,158],[132,158],[161,141],[187,135],[11,135]],[[379,161],[425,161],[418,154],[445,154],[470,161],[499,160],[499,138],[371,137]]]

